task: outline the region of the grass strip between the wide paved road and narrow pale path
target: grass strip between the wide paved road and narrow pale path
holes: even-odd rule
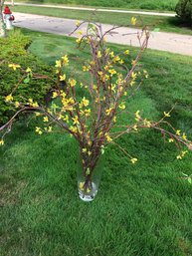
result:
[[[12,7],[13,12],[24,12],[32,14],[41,14],[60,18],[80,19],[80,20],[94,20],[106,24],[115,25],[130,25],[130,19],[132,16],[137,18],[137,27],[148,26],[151,30],[159,28],[160,31],[174,32],[180,34],[192,35],[192,30],[186,27],[182,27],[180,21],[176,17],[161,17],[150,15],[136,15],[127,13],[104,13],[91,11],[79,11],[79,10],[65,10],[58,8],[46,8],[46,7],[29,7],[29,6],[15,6]],[[17,21],[17,17],[16,17]]]

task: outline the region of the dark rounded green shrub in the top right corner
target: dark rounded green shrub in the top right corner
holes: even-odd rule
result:
[[[192,0],[179,0],[176,13],[184,23],[192,25]]]

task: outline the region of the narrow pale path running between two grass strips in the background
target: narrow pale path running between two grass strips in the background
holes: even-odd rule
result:
[[[10,2],[5,2],[5,4],[11,5]],[[115,9],[107,9],[107,8],[89,8],[89,7],[51,5],[51,4],[14,3],[14,5],[16,5],[16,6],[18,5],[18,6],[48,7],[48,8],[82,10],[82,11],[96,11],[96,12],[130,13],[130,14],[165,16],[165,17],[174,17],[176,15],[175,13],[144,12],[144,11],[135,11],[135,10],[115,10]]]

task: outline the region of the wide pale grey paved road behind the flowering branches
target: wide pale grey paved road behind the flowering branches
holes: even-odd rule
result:
[[[34,31],[68,36],[76,28],[76,20],[24,13],[14,13],[14,15],[15,26]],[[111,27],[112,25],[102,25],[103,31]],[[86,24],[81,27],[81,30],[86,31]],[[137,32],[137,29],[121,27],[116,29],[112,35],[108,35],[106,40],[110,43],[139,46]],[[74,36],[78,37],[78,34]],[[155,32],[151,34],[148,48],[192,56],[192,36]]]

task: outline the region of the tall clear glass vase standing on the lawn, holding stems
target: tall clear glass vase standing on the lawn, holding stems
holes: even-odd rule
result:
[[[95,161],[93,164],[92,157],[85,159],[82,155],[78,161],[78,192],[80,198],[86,202],[93,201],[96,197],[103,169],[103,155],[100,154]]]

